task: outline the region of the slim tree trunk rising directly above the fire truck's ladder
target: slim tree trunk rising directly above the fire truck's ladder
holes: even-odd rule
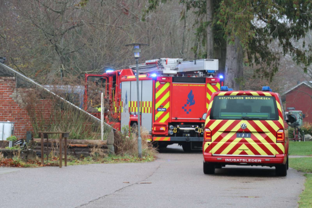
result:
[[[213,19],[214,19],[214,4],[213,0],[207,0],[207,58],[215,58],[214,56],[214,31],[213,31]]]

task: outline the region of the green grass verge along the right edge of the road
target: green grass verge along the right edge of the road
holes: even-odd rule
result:
[[[301,142],[303,143],[303,142]],[[299,208],[312,208],[312,157],[290,158],[289,166],[293,169],[306,172],[305,189],[300,194]]]

